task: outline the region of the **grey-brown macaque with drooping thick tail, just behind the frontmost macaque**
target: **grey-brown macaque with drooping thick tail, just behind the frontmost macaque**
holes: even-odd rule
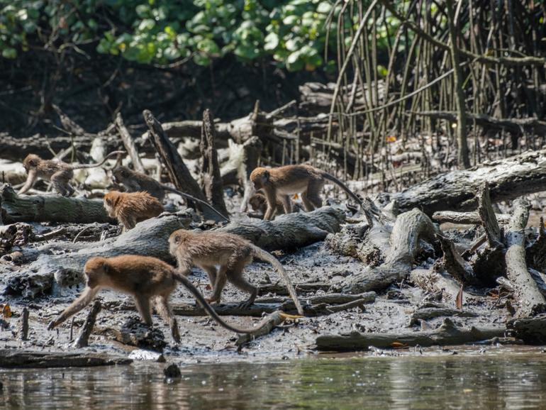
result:
[[[194,265],[208,274],[213,294],[206,301],[220,303],[225,282],[229,281],[235,287],[250,293],[249,299],[240,305],[243,307],[253,304],[258,294],[258,288],[243,277],[243,269],[252,262],[253,256],[259,257],[271,263],[279,272],[291,298],[294,299],[298,313],[303,316],[296,290],[281,262],[240,236],[233,233],[215,231],[196,233],[179,229],[169,237],[169,252],[177,258],[178,271],[181,275],[188,276]],[[216,269],[217,266],[219,269]]]

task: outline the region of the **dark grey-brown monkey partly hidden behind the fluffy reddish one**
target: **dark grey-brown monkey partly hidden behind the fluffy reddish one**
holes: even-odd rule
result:
[[[215,214],[221,216],[225,221],[230,221],[228,217],[221,214],[220,211],[217,211],[206,201],[201,201],[201,199],[197,199],[194,196],[180,192],[177,189],[167,187],[167,185],[157,182],[149,175],[130,170],[128,167],[123,167],[123,165],[119,165],[112,170],[112,179],[116,184],[122,184],[128,192],[146,191],[160,201],[165,198],[165,191],[174,192],[174,194],[178,194],[183,198],[203,204],[208,209],[211,209],[211,211],[213,211]]]

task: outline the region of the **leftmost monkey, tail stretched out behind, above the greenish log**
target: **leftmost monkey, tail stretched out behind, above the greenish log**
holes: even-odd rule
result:
[[[104,157],[104,160],[98,164],[67,164],[66,162],[57,160],[43,160],[38,155],[28,154],[23,160],[23,167],[28,174],[26,182],[18,194],[24,194],[28,189],[32,188],[36,182],[36,179],[43,178],[49,179],[57,191],[62,196],[71,196],[74,194],[74,188],[70,186],[70,179],[74,177],[74,170],[81,170],[83,168],[100,167],[108,160],[109,157],[114,155],[123,154],[124,151],[113,151]]]

